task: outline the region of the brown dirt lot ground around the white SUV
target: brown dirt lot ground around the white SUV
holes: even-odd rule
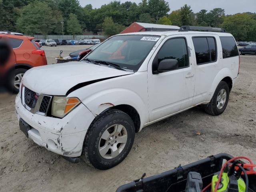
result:
[[[66,56],[82,47],[43,49],[50,64],[60,48]],[[19,130],[15,96],[0,100],[0,191],[113,192],[144,172],[151,176],[221,152],[256,162],[256,56],[240,59],[240,77],[222,115],[210,116],[196,107],[152,124],[136,134],[127,158],[106,171],[82,162],[71,164],[34,144]]]

